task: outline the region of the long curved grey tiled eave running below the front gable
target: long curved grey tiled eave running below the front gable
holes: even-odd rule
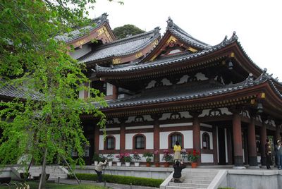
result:
[[[125,72],[136,72],[151,68],[157,68],[161,66],[168,66],[173,63],[178,63],[182,61],[188,61],[191,59],[195,59],[200,56],[204,56],[206,54],[210,54],[213,51],[222,49],[226,47],[228,44],[237,41],[237,36],[233,35],[231,39],[224,39],[223,42],[217,44],[209,49],[204,49],[202,51],[197,51],[195,53],[186,53],[186,54],[178,54],[175,56],[166,56],[161,59],[157,59],[156,61],[149,61],[145,63],[137,62],[137,63],[128,63],[123,66],[114,66],[114,67],[102,67],[96,66],[97,73],[125,73]]]

